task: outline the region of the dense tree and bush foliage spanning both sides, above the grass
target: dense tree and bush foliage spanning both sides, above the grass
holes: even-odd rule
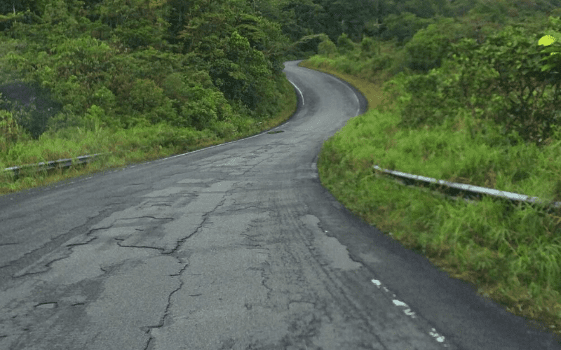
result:
[[[220,124],[233,132],[240,118],[278,111],[287,57],[346,55],[377,71],[388,66],[380,55],[382,41],[404,52],[392,73],[421,74],[400,87],[413,95],[404,106],[404,123],[468,106],[503,123],[507,134],[514,129],[527,139],[546,139],[547,123],[557,120],[560,80],[560,55],[549,53],[555,54],[559,43],[544,48],[536,45],[536,36],[556,29],[543,15],[555,18],[560,5],[557,0],[3,0],[0,103],[9,112],[1,123],[17,125],[9,132],[4,127],[4,143],[72,127],[119,130],[165,123],[204,130]],[[442,71],[426,75],[443,64]],[[453,81],[440,76],[446,69],[458,72]]]

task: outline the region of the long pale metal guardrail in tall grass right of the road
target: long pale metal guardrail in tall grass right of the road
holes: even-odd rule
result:
[[[498,197],[503,200],[508,200],[511,202],[527,202],[532,206],[539,204],[544,207],[559,208],[561,207],[561,202],[544,202],[538,197],[529,197],[527,195],[520,195],[518,193],[506,192],[501,190],[494,190],[493,188],[485,188],[480,186],[468,185],[466,183],[454,183],[450,181],[433,179],[426,176],[407,174],[404,172],[396,172],[395,170],[382,169],[381,167],[374,165],[374,169],[384,174],[388,174],[393,177],[400,178],[405,185],[418,185],[419,183],[427,184],[431,189],[439,190],[445,192],[446,195],[452,195],[453,197],[468,197],[480,199],[483,195]]]

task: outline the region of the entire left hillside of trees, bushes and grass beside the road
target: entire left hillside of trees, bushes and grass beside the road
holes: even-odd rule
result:
[[[282,73],[289,40],[246,1],[1,5],[2,169],[107,152],[85,171],[154,159],[255,134],[295,110]],[[2,174],[0,187],[83,172]]]

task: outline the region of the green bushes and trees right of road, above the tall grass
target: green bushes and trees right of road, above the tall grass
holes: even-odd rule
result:
[[[320,14],[339,2],[311,3],[321,23]],[[346,3],[354,8],[355,1]],[[551,137],[561,118],[561,44],[546,48],[538,41],[561,30],[561,1],[361,3],[360,11],[342,12],[347,23],[359,14],[354,27],[312,26],[302,29],[303,38],[315,38],[320,55],[347,62],[347,73],[401,73],[388,85],[401,95],[403,126],[442,124],[468,109],[502,125],[509,142],[512,132],[537,145]],[[374,31],[372,18],[383,18]],[[393,57],[381,54],[381,43],[393,44]]]

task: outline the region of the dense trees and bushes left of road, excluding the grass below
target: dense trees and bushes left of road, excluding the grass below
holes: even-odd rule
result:
[[[203,130],[278,111],[288,39],[245,1],[3,1],[0,8],[3,106],[20,102],[2,123],[17,120],[31,137],[158,123]],[[45,103],[8,96],[18,94],[14,81],[40,89]]]

